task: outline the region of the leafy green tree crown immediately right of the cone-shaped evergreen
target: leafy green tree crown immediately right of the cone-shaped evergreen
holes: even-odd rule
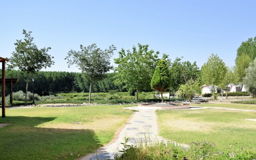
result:
[[[170,68],[172,73],[171,88],[174,91],[177,91],[181,84],[186,84],[191,79],[198,79],[200,73],[200,70],[196,65],[196,62],[181,62],[182,58],[176,58]]]

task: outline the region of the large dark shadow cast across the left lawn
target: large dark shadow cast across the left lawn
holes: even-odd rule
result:
[[[71,160],[102,146],[94,130],[36,127],[54,119],[25,116],[0,118],[0,123],[10,123],[0,128],[0,159]]]

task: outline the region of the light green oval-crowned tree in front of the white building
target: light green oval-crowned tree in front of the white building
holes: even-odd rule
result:
[[[206,63],[202,66],[201,75],[204,84],[214,86],[221,85],[227,72],[227,68],[222,59],[217,54],[212,54]],[[213,92],[213,97],[215,92]]]

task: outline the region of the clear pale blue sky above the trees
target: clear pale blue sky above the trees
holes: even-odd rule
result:
[[[255,6],[255,0],[0,0],[0,56],[11,56],[25,29],[38,48],[52,48],[48,71],[79,72],[64,58],[92,43],[114,44],[113,58],[139,42],[199,67],[212,53],[234,66],[242,41],[256,36]]]

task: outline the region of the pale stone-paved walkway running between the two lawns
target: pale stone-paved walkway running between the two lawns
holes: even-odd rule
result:
[[[137,110],[130,121],[124,126],[117,140],[114,143],[108,144],[98,149],[95,153],[88,154],[79,160],[114,160],[114,155],[118,154],[118,150],[122,150],[124,137],[129,138],[129,145],[136,145],[140,142],[159,142],[166,140],[158,135],[158,126],[156,120],[156,109],[159,107],[126,107],[125,109]],[[188,147],[188,146],[185,146]]]

